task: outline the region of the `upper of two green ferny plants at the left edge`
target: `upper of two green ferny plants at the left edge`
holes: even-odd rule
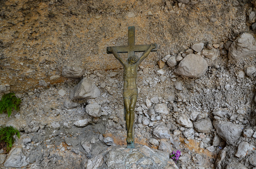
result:
[[[10,117],[13,108],[15,108],[15,110],[19,110],[21,101],[22,100],[17,98],[13,92],[4,94],[0,100],[0,113],[7,111],[8,116]]]

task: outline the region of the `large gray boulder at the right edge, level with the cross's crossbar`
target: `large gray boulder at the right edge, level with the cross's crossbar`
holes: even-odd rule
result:
[[[229,47],[228,58],[237,60],[253,54],[256,54],[256,41],[252,34],[244,32]]]

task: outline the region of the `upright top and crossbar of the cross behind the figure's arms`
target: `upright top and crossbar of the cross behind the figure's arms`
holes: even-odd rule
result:
[[[132,55],[134,55],[134,52],[143,52],[148,49],[150,44],[138,44],[135,45],[135,27],[129,26],[128,27],[128,45],[124,46],[111,46],[116,50],[118,53],[127,53],[128,52],[128,58]],[[157,48],[152,49],[151,51],[157,51]],[[107,53],[112,53],[107,51]]]

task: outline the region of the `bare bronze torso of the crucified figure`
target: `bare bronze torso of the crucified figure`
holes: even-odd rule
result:
[[[137,88],[136,79],[138,75],[137,63],[124,65],[124,89]]]

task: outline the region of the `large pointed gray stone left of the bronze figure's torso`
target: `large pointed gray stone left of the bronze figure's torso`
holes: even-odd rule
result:
[[[100,96],[100,89],[89,79],[83,78],[70,94],[72,100],[96,98]]]

